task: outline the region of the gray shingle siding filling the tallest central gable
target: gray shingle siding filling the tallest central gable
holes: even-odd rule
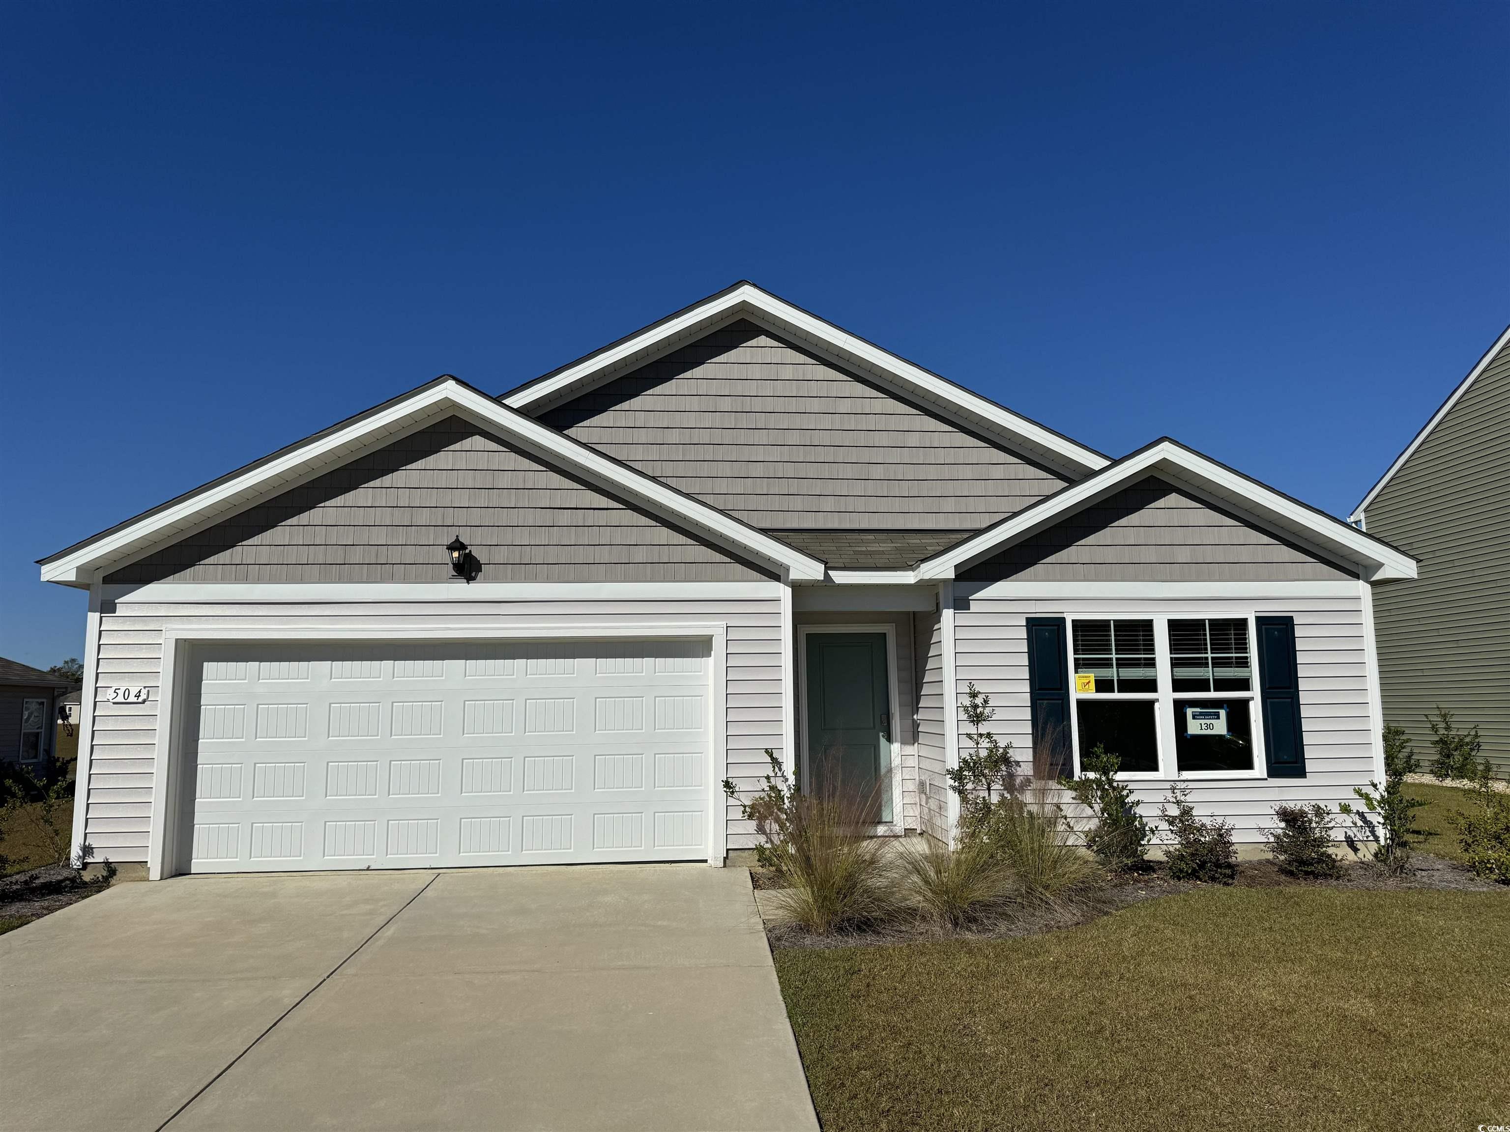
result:
[[[766,530],[977,530],[1066,483],[747,320],[541,420]]]

